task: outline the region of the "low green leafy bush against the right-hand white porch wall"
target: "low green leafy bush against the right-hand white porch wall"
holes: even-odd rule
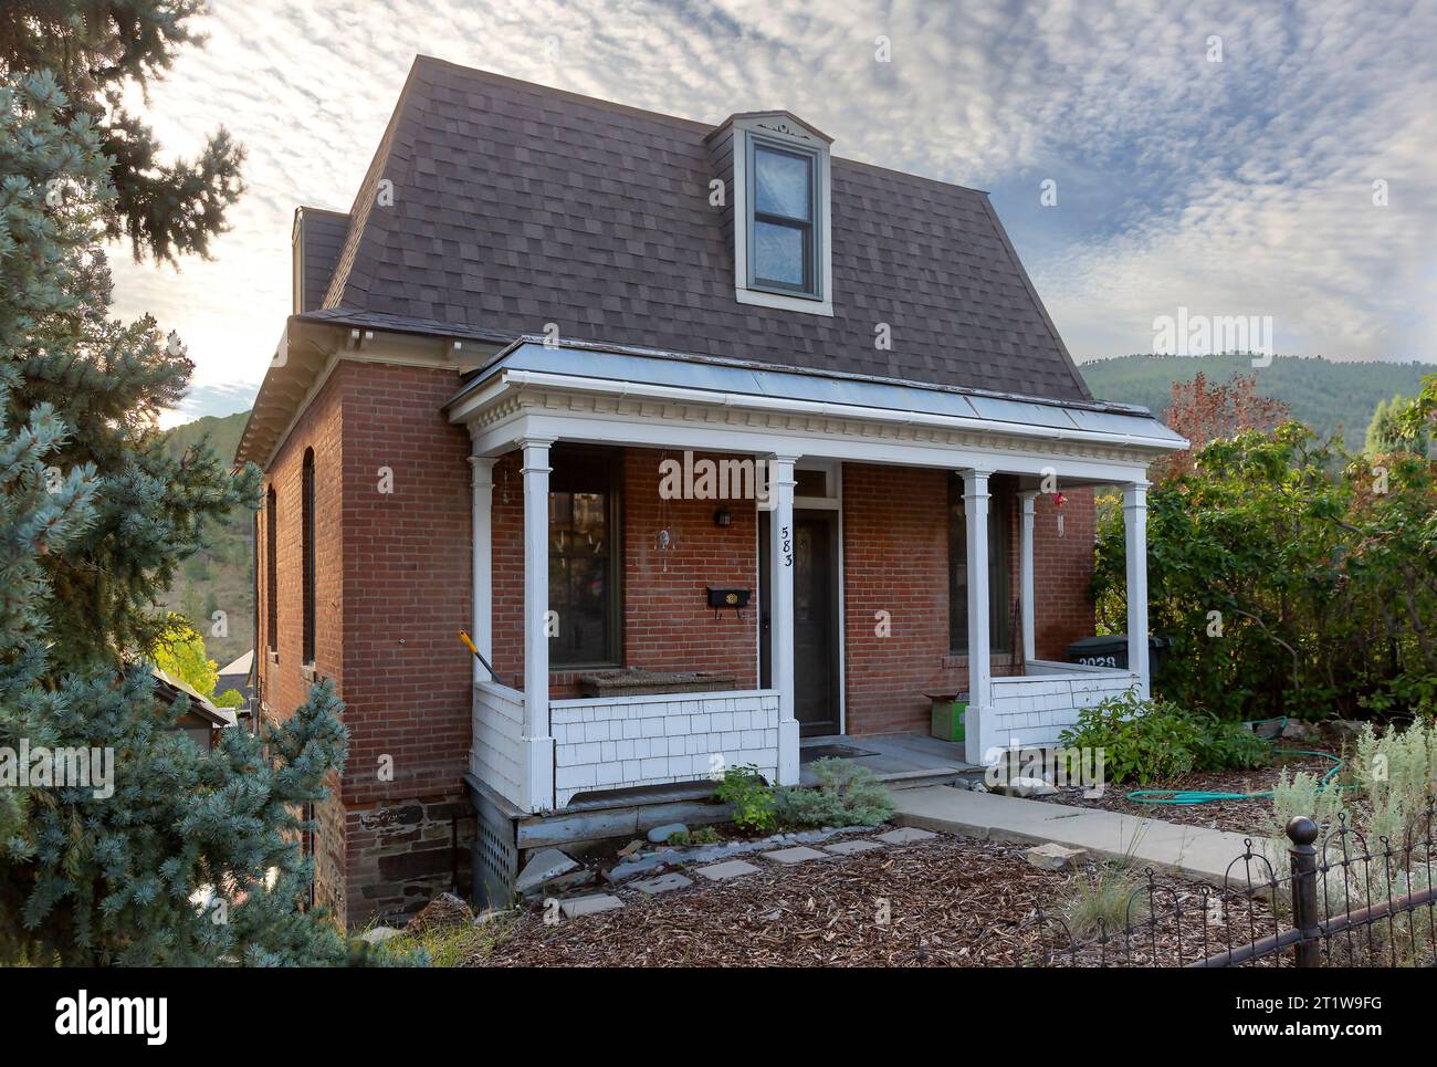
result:
[[[1062,735],[1071,748],[1101,748],[1114,782],[1151,785],[1190,771],[1229,771],[1267,761],[1262,738],[1239,722],[1190,715],[1165,700],[1144,700],[1135,689],[1085,707]]]

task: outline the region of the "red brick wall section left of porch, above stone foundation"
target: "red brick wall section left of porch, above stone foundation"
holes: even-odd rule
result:
[[[470,624],[470,441],[443,413],[454,371],[346,362],[341,372],[343,802],[358,922],[450,887],[450,815],[463,815],[461,848],[474,835],[460,788],[471,669],[456,633]]]

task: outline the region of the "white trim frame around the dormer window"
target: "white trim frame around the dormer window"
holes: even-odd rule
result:
[[[775,293],[767,289],[753,289],[749,282],[749,142],[752,139],[770,141],[779,147],[790,145],[813,155],[813,167],[818,171],[818,201],[813,210],[818,216],[815,229],[818,232],[818,262],[813,269],[819,278],[819,298],[789,296]],[[760,308],[780,308],[783,311],[798,311],[805,315],[833,316],[833,233],[832,211],[833,200],[829,175],[828,145],[812,137],[802,128],[795,128],[789,122],[775,124],[764,119],[744,119],[734,124],[733,131],[733,288],[734,299],[739,303],[752,303]]]

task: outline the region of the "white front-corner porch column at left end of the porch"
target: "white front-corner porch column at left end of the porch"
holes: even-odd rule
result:
[[[525,450],[525,807],[553,808],[553,736],[549,733],[549,446],[520,441]]]

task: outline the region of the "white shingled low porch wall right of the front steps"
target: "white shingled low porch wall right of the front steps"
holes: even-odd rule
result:
[[[992,725],[984,731],[984,745],[1056,745],[1062,732],[1078,722],[1082,709],[1137,684],[1138,674],[1131,670],[1032,660],[1023,674],[990,679],[992,703],[984,715],[990,716]],[[971,710],[969,713],[973,715]],[[973,729],[973,723],[967,722],[966,729]]]

